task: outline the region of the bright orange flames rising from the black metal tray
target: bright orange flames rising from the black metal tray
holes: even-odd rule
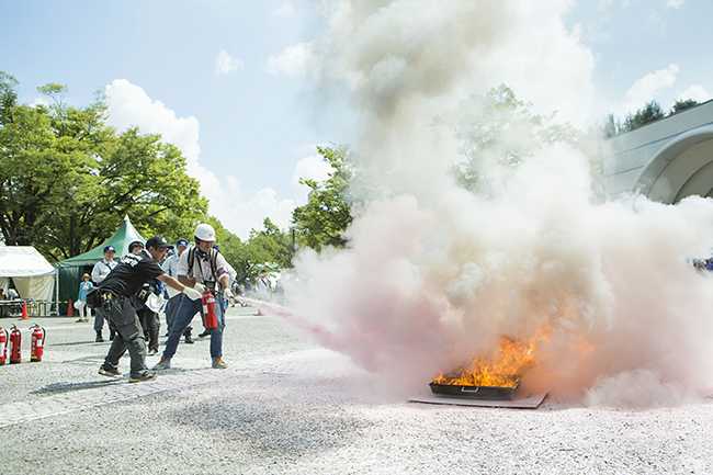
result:
[[[514,387],[522,374],[535,364],[537,344],[550,338],[548,325],[541,326],[528,343],[508,337],[500,337],[500,344],[493,359],[472,359],[471,367],[460,375],[441,375],[435,384],[463,386]]]

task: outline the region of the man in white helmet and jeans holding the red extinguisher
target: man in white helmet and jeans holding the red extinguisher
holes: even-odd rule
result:
[[[230,298],[230,276],[228,263],[225,258],[213,248],[215,242],[215,229],[210,224],[200,224],[195,228],[195,247],[183,252],[179,260],[178,280],[183,285],[192,286],[201,294],[206,291],[215,297],[215,312],[218,318],[218,328],[211,333],[211,365],[216,369],[225,369],[228,365],[223,361],[223,328],[225,328],[225,315],[223,314],[223,298]],[[181,335],[191,324],[193,316],[203,313],[201,299],[192,301],[183,298],[179,306],[176,320],[171,326],[166,349],[161,361],[154,366],[155,371],[168,370],[171,367],[171,358],[176,354]]]

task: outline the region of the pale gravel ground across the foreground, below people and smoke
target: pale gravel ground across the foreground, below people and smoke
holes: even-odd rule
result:
[[[254,313],[228,312],[227,370],[207,367],[203,339],[140,384],[97,374],[109,343],[91,324],[38,319],[43,361],[0,366],[0,473],[713,473],[708,399],[645,411],[407,403],[370,394],[346,358]]]

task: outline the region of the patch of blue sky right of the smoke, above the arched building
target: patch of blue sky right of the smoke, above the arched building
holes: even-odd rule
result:
[[[600,100],[621,116],[635,111],[627,108],[630,97],[637,104],[655,99],[666,111],[681,94],[711,99],[712,14],[706,0],[609,0],[578,1],[564,19],[568,29],[581,29],[581,43],[596,55]]]

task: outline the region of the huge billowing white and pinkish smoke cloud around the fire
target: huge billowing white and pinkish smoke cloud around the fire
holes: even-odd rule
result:
[[[552,12],[553,2],[537,3]],[[517,35],[531,19],[519,7],[340,2],[325,48],[335,56],[324,59],[353,87],[360,167],[382,193],[359,211],[347,250],[298,256],[309,280],[287,286],[291,306],[320,328],[318,342],[405,392],[500,336],[528,341],[545,324],[550,338],[524,381],[532,388],[578,398],[589,389],[589,404],[627,400],[616,396],[622,381],[701,391],[713,361],[713,279],[686,258],[709,252],[710,200],[592,204],[589,163],[563,145],[493,169],[487,196],[450,178],[455,147],[433,117],[468,87],[499,83],[480,66],[513,38],[527,44]],[[518,65],[498,70],[508,67]],[[631,377],[643,370],[656,377]]]

